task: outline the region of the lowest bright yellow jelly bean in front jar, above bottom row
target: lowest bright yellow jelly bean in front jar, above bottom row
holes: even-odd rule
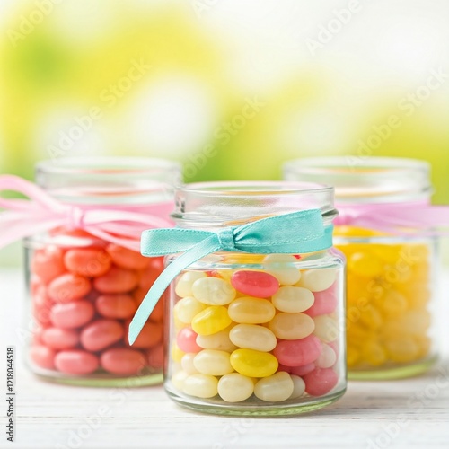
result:
[[[254,349],[236,349],[230,361],[237,373],[247,377],[268,377],[276,373],[279,365],[272,354]]]

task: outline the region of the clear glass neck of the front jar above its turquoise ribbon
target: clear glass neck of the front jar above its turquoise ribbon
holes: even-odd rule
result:
[[[333,189],[304,182],[198,182],[176,190],[172,219],[179,227],[209,229],[310,209],[321,210],[331,225],[337,216]]]

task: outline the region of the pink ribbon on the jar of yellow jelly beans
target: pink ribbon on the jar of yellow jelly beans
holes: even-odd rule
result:
[[[353,225],[396,234],[419,230],[429,235],[447,235],[449,206],[427,202],[336,204],[339,216],[334,225]]]

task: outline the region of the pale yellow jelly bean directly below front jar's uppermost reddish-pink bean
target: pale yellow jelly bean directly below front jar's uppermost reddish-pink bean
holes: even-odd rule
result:
[[[235,322],[260,324],[269,322],[275,316],[276,309],[267,299],[244,296],[229,304],[228,313]]]

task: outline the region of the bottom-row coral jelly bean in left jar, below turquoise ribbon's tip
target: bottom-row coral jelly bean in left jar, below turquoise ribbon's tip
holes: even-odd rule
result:
[[[131,348],[111,348],[100,356],[100,365],[112,374],[131,375],[139,373],[146,365],[142,352]]]

